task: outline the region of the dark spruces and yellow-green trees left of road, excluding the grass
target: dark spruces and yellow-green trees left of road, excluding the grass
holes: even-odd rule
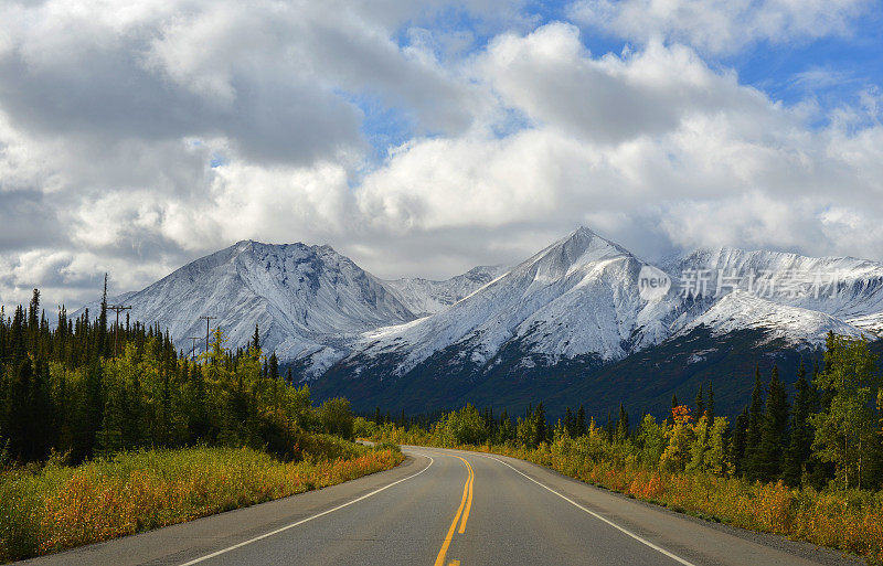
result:
[[[159,325],[110,324],[107,310],[106,285],[97,317],[62,307],[54,327],[36,289],[13,313],[0,308],[0,466],[192,445],[297,459],[310,432],[352,437],[349,402],[313,408],[309,388],[263,353],[258,328],[235,350],[215,330],[190,360]]]

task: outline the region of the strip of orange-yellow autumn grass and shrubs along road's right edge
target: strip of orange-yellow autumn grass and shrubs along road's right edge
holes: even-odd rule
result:
[[[400,435],[404,436],[404,435]],[[748,482],[698,472],[648,470],[632,462],[593,460],[578,441],[558,439],[529,449],[508,445],[458,445],[407,435],[402,444],[509,456],[628,496],[705,520],[859,555],[883,564],[883,494],[790,489],[781,482]],[[377,440],[391,440],[377,436]]]

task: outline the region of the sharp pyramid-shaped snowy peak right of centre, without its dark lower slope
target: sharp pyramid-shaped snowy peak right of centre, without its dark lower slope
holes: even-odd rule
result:
[[[683,301],[646,301],[637,277],[645,264],[585,227],[432,317],[365,332],[352,344],[361,362],[394,355],[403,374],[436,352],[481,366],[507,344],[562,357],[619,360],[658,343],[685,310]],[[531,362],[529,362],[531,363]]]

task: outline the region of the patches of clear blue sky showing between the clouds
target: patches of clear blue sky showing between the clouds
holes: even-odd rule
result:
[[[439,57],[451,60],[480,55],[503,32],[528,31],[551,22],[571,21],[571,2],[525,2],[523,20],[517,24],[487,21],[462,6],[447,7],[432,17],[403,22],[393,38],[401,49],[414,41],[414,29],[435,35],[461,34],[464,49],[456,54],[437,50]],[[849,29],[821,38],[759,40],[734,52],[714,53],[699,49],[703,60],[721,72],[734,72],[740,83],[764,92],[772,100],[788,106],[811,103],[817,115],[808,125],[828,125],[837,108],[861,104],[864,93],[881,89],[883,83],[883,4],[865,2],[861,17]],[[619,55],[624,50],[640,50],[640,41],[594,25],[582,25],[581,43],[594,56]],[[371,145],[374,162],[382,161],[391,147],[414,136],[433,137],[438,132],[421,130],[419,120],[407,108],[383,104],[375,96],[348,95],[364,113],[362,131]],[[508,130],[506,130],[508,131]]]

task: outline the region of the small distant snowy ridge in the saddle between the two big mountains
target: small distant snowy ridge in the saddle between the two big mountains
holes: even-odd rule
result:
[[[427,317],[468,297],[508,270],[508,267],[501,265],[478,266],[444,281],[403,278],[385,280],[383,284],[411,312],[417,317]]]

